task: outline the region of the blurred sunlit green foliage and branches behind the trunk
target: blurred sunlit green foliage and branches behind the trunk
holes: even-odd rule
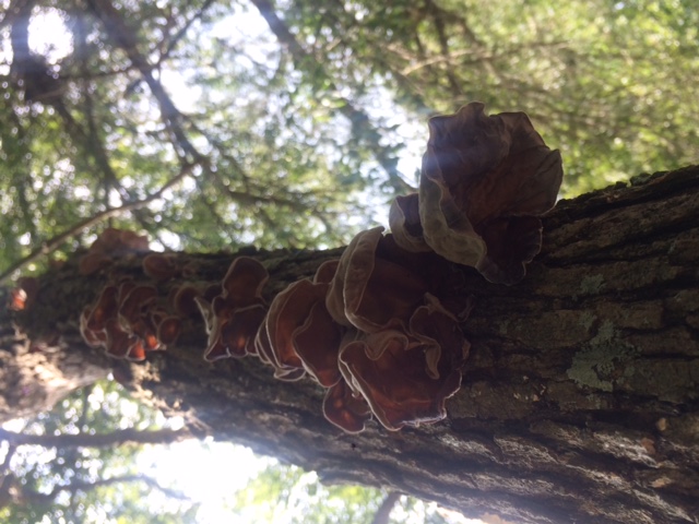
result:
[[[416,184],[427,118],[471,100],[530,115],[561,150],[565,195],[697,162],[692,0],[0,0],[0,13],[3,277],[43,271],[107,225],[161,249],[345,243]],[[24,431],[112,431],[122,400],[98,388]],[[133,474],[135,448],[10,448],[5,479],[51,497],[5,500],[0,517],[149,511],[143,483],[57,490]],[[289,486],[310,486],[295,469],[264,475],[287,504]],[[258,488],[233,510],[260,505]],[[342,492],[366,515],[383,496]],[[196,513],[181,504],[158,522]]]

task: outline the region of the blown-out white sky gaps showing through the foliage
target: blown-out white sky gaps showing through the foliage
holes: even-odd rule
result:
[[[264,45],[264,35],[269,32],[264,21],[254,11],[239,12],[235,23],[225,19],[214,27],[214,33],[221,37],[230,35],[230,28],[238,28],[240,36],[249,41]],[[262,36],[262,38],[260,38]],[[268,38],[268,41],[271,41]],[[262,44],[260,44],[262,43]],[[34,16],[29,26],[29,46],[35,52],[48,58],[50,62],[60,60],[72,52],[71,35],[57,10],[47,8],[42,14]],[[258,49],[261,57],[264,56]],[[254,49],[250,52],[254,53]],[[5,53],[7,55],[7,53]],[[8,56],[0,60],[9,62]],[[183,82],[181,72],[163,72],[162,80],[171,93],[174,102],[180,108],[191,104],[192,91]],[[386,108],[386,104],[377,102],[377,108]],[[377,109],[378,110],[378,109]],[[400,114],[400,111],[396,111]],[[424,126],[424,122],[403,122],[404,126]],[[410,132],[407,134],[411,134]],[[419,144],[417,151],[420,151]],[[407,151],[415,151],[408,147]],[[399,168],[402,172],[412,175],[419,167],[419,157],[413,153],[401,159]],[[386,219],[384,219],[386,222]],[[3,425],[8,430],[16,425]],[[259,471],[270,464],[270,458],[258,457],[249,449],[229,443],[187,441],[169,446],[149,446],[141,454],[139,468],[154,477],[163,486],[174,487],[187,493],[192,500],[201,503],[198,520],[201,523],[229,522],[230,514],[225,508],[226,498],[235,490],[244,487]],[[454,515],[451,522],[463,524],[478,524]]]

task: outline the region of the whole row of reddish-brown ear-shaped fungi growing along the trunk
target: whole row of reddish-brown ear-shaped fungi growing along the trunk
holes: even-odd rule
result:
[[[236,258],[220,286],[166,298],[154,286],[108,285],[81,317],[84,338],[140,360],[173,344],[180,320],[198,310],[206,360],[254,355],[280,380],[309,377],[325,389],[325,418],[345,431],[362,431],[371,415],[389,430],[443,419],[470,347],[461,330],[469,300],[442,293],[449,267],[519,282],[541,249],[540,216],[555,204],[562,168],[522,112],[487,117],[473,103],[433,118],[429,131],[419,191],[393,203],[392,234],[359,233],[340,259],[269,305],[268,271],[251,257]],[[81,269],[143,249],[141,238],[111,230]],[[163,253],[143,265],[156,281],[182,274]]]

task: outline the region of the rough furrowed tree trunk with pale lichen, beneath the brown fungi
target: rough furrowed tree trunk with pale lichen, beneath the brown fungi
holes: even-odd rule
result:
[[[698,224],[699,168],[691,167],[560,202],[544,219],[542,253],[513,287],[454,267],[475,303],[463,325],[472,343],[463,385],[446,421],[400,432],[377,424],[342,432],[324,420],[319,386],[280,382],[256,358],[205,362],[201,321],[145,364],[86,352],[78,317],[104,281],[69,263],[46,275],[36,302],[15,315],[33,342],[0,350],[0,416],[32,407],[12,393],[12,369],[28,366],[22,357],[71,376],[61,366],[79,355],[90,369],[112,369],[145,401],[185,414],[192,432],[313,468],[328,481],[389,486],[517,522],[696,523]],[[271,298],[341,252],[245,254],[269,269]],[[218,282],[234,258],[181,257],[202,282]],[[112,271],[144,278],[135,255]],[[59,345],[29,353],[57,334]]]

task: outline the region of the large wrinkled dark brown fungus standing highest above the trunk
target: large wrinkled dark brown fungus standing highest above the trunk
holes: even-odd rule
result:
[[[441,257],[514,284],[541,249],[538,216],[562,179],[550,151],[523,112],[487,117],[481,103],[429,121],[419,216],[425,241]]]

